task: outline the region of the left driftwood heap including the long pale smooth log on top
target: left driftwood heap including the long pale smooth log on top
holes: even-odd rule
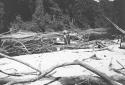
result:
[[[1,34],[1,47],[8,55],[17,56],[24,54],[42,53],[42,47],[52,44],[55,38],[62,36],[59,33],[33,33],[20,31],[13,34]],[[41,49],[40,49],[41,48]],[[47,47],[48,48],[48,47]],[[37,50],[36,50],[37,49]],[[50,49],[45,49],[49,52]]]

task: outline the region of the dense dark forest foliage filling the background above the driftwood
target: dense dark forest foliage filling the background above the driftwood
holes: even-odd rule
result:
[[[103,15],[117,24],[118,10],[114,4],[109,0],[99,3],[94,0],[1,0],[0,26],[1,29],[12,27],[16,16],[21,15],[20,29],[36,32],[111,28]]]

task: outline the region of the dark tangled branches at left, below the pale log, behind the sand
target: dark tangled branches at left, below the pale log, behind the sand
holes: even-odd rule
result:
[[[27,41],[20,41],[16,39],[7,39],[3,41],[2,48],[7,50],[8,55],[16,56],[16,55],[24,55],[24,54],[33,54],[33,53],[43,53],[44,49],[53,45],[53,39],[31,39]],[[46,47],[46,48],[45,48]]]

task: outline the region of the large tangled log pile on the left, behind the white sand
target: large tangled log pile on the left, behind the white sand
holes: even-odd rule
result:
[[[16,36],[16,35],[15,35]],[[8,55],[25,55],[34,53],[44,53],[55,51],[55,38],[35,35],[31,37],[7,37],[2,39],[2,49],[6,50]]]

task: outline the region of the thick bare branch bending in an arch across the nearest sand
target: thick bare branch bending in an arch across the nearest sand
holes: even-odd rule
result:
[[[37,80],[40,80],[42,78],[44,78],[47,74],[49,74],[50,72],[52,72],[53,70],[59,68],[59,67],[64,67],[64,66],[69,66],[69,65],[80,65],[90,71],[92,71],[93,73],[99,75],[100,77],[102,77],[107,83],[109,83],[110,85],[122,85],[116,81],[113,81],[110,77],[108,77],[105,73],[102,73],[98,70],[96,70],[95,68],[87,65],[86,63],[83,63],[81,61],[74,61],[74,62],[71,62],[71,63],[64,63],[64,64],[61,64],[61,65],[56,65],[50,69],[48,69],[46,72],[44,72],[43,74],[41,75],[38,75],[37,77],[35,78],[31,78],[31,79],[25,79],[25,80],[17,80],[17,81],[11,81],[9,83],[7,83],[6,85],[14,85],[14,84],[17,84],[17,83],[28,83],[28,82],[34,82],[34,81],[37,81]]]

